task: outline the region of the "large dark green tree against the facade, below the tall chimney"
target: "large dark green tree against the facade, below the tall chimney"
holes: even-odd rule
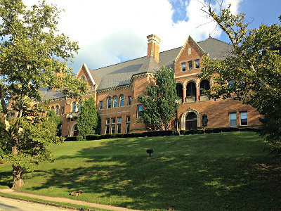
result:
[[[143,120],[155,130],[169,129],[175,117],[177,98],[174,70],[162,66],[152,87],[147,87],[147,93],[138,96],[138,101],[144,106],[138,122]]]

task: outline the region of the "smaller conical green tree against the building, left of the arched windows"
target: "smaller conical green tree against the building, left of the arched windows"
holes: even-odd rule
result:
[[[79,113],[77,129],[78,134],[85,136],[88,134],[96,134],[98,127],[98,114],[96,112],[96,102],[91,96],[88,99],[84,99],[81,112]]]

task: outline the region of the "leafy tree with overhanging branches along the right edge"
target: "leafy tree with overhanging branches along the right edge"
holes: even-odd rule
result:
[[[233,15],[230,6],[220,15],[205,11],[225,32],[233,52],[225,60],[204,58],[202,78],[214,79],[209,97],[234,98],[256,108],[261,135],[275,150],[281,149],[281,27],[261,25],[247,29],[245,14]]]

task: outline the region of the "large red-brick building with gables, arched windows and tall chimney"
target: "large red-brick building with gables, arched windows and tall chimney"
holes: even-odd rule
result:
[[[143,110],[138,95],[146,91],[146,86],[153,82],[162,65],[174,70],[179,98],[179,129],[260,124],[259,113],[251,106],[242,105],[240,101],[231,98],[213,101],[201,91],[210,89],[213,83],[211,80],[197,78],[203,56],[226,58],[232,50],[230,44],[211,37],[200,42],[188,37],[182,47],[160,52],[159,37],[151,34],[147,38],[147,55],[97,70],[91,70],[84,63],[76,75],[89,85],[89,91],[84,97],[93,96],[96,101],[97,112],[101,117],[100,134],[148,130],[144,123],[136,123]],[[50,108],[61,116],[62,136],[77,135],[80,103],[67,98],[60,89],[42,89],[41,94],[43,100],[51,99]]]

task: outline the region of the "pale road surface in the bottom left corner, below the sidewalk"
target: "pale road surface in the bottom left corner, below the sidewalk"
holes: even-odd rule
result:
[[[67,211],[69,209],[40,205],[24,200],[5,198],[0,196],[0,211]],[[69,210],[70,211],[70,210]]]

